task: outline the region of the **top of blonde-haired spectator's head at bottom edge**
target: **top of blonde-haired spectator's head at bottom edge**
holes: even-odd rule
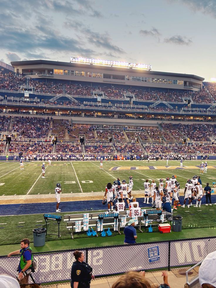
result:
[[[152,288],[152,282],[136,271],[130,271],[119,277],[112,288]]]

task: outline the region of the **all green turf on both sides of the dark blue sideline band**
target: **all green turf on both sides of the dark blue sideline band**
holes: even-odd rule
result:
[[[41,197],[45,194],[53,194],[57,182],[62,184],[62,193],[85,193],[88,192],[101,192],[95,195],[99,195],[98,199],[102,199],[106,184],[113,182],[120,178],[120,180],[133,176],[134,187],[133,191],[136,192],[139,197],[143,197],[143,182],[145,179],[155,179],[156,183],[160,178],[165,179],[167,176],[171,177],[173,174],[177,176],[177,180],[180,183],[180,188],[184,188],[188,178],[192,178],[193,175],[200,175],[200,169],[195,167],[200,165],[201,161],[185,161],[184,169],[179,168],[179,161],[169,161],[166,167],[166,161],[104,161],[103,170],[99,169],[99,161],[87,161],[87,162],[52,162],[51,166],[46,165],[45,179],[41,178],[41,162],[28,162],[24,163],[25,170],[20,170],[19,162],[1,162],[0,163],[0,199],[1,203],[17,203],[13,202],[15,199],[20,199],[20,203],[24,203],[25,196],[31,197],[31,195],[39,194]],[[212,182],[216,180],[215,169],[216,161],[207,161],[209,167],[207,174],[200,175],[203,182],[203,187],[207,182],[212,185]],[[213,167],[215,165],[215,167]],[[149,166],[151,169],[149,169]],[[117,170],[111,170],[113,167],[117,167]],[[131,167],[136,167],[136,170]],[[130,170],[129,170],[130,169]],[[215,193],[214,193],[215,194]],[[38,196],[39,196],[38,195]],[[86,194],[87,195],[87,194]],[[20,198],[16,198],[19,196]],[[23,196],[23,197],[22,197]],[[39,196],[39,197],[40,197]],[[3,200],[4,199],[4,200]],[[40,199],[40,198],[38,198]],[[212,200],[214,198],[212,197]],[[85,196],[83,200],[88,200]],[[39,202],[39,200],[35,201]],[[213,203],[215,200],[213,200]],[[1,209],[1,206],[0,206]],[[202,205],[201,209],[195,207],[187,209],[179,208],[176,215],[183,216],[183,230],[181,233],[139,233],[138,242],[148,242],[158,239],[170,240],[170,239],[182,239],[182,238],[195,238],[205,236],[216,236],[216,220],[215,215],[216,206]],[[37,213],[36,211],[34,213]],[[13,214],[13,211],[11,211]],[[66,215],[69,213],[60,213]],[[213,217],[212,217],[213,216]],[[28,222],[26,221],[28,219]],[[33,240],[33,228],[36,225],[44,224],[43,214],[36,215],[19,215],[19,216],[1,216],[0,222],[7,223],[7,231],[3,233],[1,229],[0,243],[2,245],[0,249],[1,255],[4,255],[5,245],[19,243],[23,237]],[[20,222],[25,222],[20,224]],[[54,221],[52,221],[54,222]],[[0,224],[0,228],[1,228]],[[23,227],[18,227],[23,226]],[[38,226],[39,227],[39,226]],[[210,227],[210,228],[205,228]],[[190,228],[190,229],[187,229]],[[191,229],[200,228],[200,229]],[[203,229],[202,229],[203,228]],[[207,230],[206,230],[207,229]],[[51,223],[49,233],[56,233],[57,225]],[[6,235],[5,235],[6,234]],[[102,237],[89,238],[85,233],[76,234],[75,239],[71,239],[70,231],[66,229],[66,223],[63,221],[60,224],[60,234],[62,237],[58,240],[46,241],[45,247],[41,249],[47,250],[59,250],[63,249],[60,243],[68,243],[68,249],[72,247],[94,247],[104,245],[117,245],[122,244],[124,235],[117,235],[115,237]],[[58,245],[56,246],[56,243]],[[69,244],[70,243],[70,244]],[[60,246],[59,246],[60,245]],[[67,244],[64,244],[67,245]],[[58,247],[58,248],[54,248]],[[67,249],[64,248],[64,249]],[[40,251],[40,248],[38,248]]]

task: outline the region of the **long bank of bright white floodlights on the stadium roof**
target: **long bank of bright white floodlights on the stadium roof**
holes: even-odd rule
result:
[[[94,59],[94,58],[83,58],[83,57],[70,57],[70,63],[79,63],[79,64],[92,64],[99,66],[108,66],[108,67],[117,67],[117,68],[132,68],[132,69],[141,69],[141,70],[151,70],[152,65],[146,65],[141,63],[128,63],[123,61],[110,61],[103,59]]]

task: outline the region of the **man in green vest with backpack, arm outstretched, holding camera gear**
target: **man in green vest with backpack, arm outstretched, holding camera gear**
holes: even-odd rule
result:
[[[10,257],[11,255],[17,255],[21,253],[20,262],[17,269],[17,271],[19,272],[17,278],[20,281],[20,284],[28,284],[29,275],[25,275],[26,273],[24,272],[26,270],[29,270],[29,268],[31,268],[31,262],[33,260],[33,253],[29,244],[30,244],[29,239],[23,239],[20,243],[21,250],[16,250],[8,254],[8,257]]]

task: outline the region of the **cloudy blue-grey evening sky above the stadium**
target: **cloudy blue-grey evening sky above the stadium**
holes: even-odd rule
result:
[[[0,0],[0,61],[87,57],[216,78],[216,0]]]

